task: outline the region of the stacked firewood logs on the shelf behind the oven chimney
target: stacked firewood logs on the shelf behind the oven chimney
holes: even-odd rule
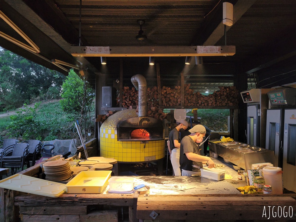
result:
[[[203,95],[190,89],[190,84],[185,84],[184,106],[236,106],[239,95],[234,86],[222,86],[213,94]],[[161,88],[161,105],[163,107],[174,107],[181,105],[181,86]],[[119,98],[117,98],[119,103]],[[135,87],[123,88],[122,107],[137,109],[139,105],[138,91]],[[108,115],[108,114],[107,114]],[[147,88],[147,116],[163,120],[166,114],[159,108],[157,86]]]

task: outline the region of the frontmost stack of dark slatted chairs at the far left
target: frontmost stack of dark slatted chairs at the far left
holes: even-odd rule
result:
[[[16,143],[13,147],[4,150],[1,165],[4,168],[11,168],[12,175],[15,174],[15,169],[21,168],[24,170],[24,165],[28,161],[29,144]]]

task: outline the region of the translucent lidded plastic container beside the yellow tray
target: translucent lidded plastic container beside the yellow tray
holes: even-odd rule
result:
[[[135,178],[127,176],[113,176],[109,179],[109,191],[128,192],[133,190]]]

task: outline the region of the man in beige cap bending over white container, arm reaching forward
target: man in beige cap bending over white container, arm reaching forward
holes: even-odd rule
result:
[[[202,125],[195,125],[189,130],[189,136],[185,136],[180,145],[180,168],[182,176],[200,176],[200,168],[203,163],[208,164],[208,168],[213,168],[215,163],[210,157],[200,155],[199,146],[205,136],[206,129]]]

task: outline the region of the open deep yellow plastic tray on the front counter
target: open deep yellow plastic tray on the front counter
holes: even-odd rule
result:
[[[68,194],[102,193],[111,177],[111,172],[111,170],[81,171],[66,184],[66,191]]]

